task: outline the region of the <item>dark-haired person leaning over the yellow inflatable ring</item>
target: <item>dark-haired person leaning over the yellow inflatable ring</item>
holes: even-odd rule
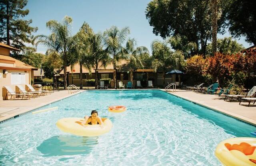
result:
[[[84,121],[76,121],[76,123],[86,127],[86,125],[92,125],[92,124],[100,124],[101,127],[103,127],[103,119],[101,119],[100,117],[98,117],[98,111],[96,110],[92,110],[91,112],[91,116],[85,116],[84,117]]]

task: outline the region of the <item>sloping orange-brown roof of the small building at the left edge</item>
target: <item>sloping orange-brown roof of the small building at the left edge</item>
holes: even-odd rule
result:
[[[16,68],[16,69],[32,69],[32,70],[37,70],[36,67],[28,65],[28,64],[26,64],[26,63],[24,63],[22,61],[19,61],[18,59],[14,59],[13,57],[10,57],[10,56],[0,55],[0,60],[9,61],[9,62],[15,64],[14,67],[6,67],[6,69],[8,69],[8,68]]]

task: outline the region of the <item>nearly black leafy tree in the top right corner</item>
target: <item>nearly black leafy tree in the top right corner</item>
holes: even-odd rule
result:
[[[229,31],[232,36],[245,36],[256,45],[256,1],[232,0],[228,8]]]

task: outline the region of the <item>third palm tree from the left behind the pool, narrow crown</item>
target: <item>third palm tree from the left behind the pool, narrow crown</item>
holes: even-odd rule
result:
[[[101,67],[106,67],[110,63],[108,51],[103,49],[102,34],[92,34],[90,36],[91,49],[88,56],[88,67],[92,67],[95,70],[95,88],[98,89],[98,71]]]

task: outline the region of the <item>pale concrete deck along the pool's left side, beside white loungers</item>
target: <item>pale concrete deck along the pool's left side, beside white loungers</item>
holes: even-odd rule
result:
[[[84,90],[80,90],[78,93],[83,91]],[[61,90],[30,99],[0,101],[0,122],[76,94],[77,93],[68,94],[68,90]]]

